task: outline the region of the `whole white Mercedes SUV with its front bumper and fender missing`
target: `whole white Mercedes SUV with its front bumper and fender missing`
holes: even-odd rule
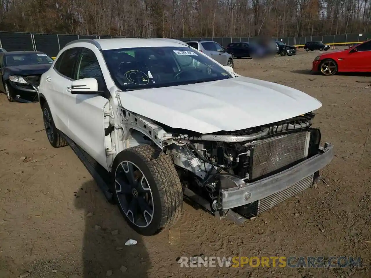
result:
[[[76,40],[39,91],[50,144],[69,145],[128,224],[154,235],[189,198],[243,223],[331,162],[315,98],[237,75],[172,39]]]

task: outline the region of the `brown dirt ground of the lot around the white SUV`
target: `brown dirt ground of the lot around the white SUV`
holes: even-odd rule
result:
[[[38,103],[0,95],[0,277],[370,277],[371,76],[312,75],[318,52],[234,60],[244,76],[319,99],[315,126],[336,156],[325,182],[239,226],[185,204],[179,232],[143,238],[69,147],[53,149]],[[269,100],[267,100],[269,101]],[[274,113],[274,111],[272,111]],[[117,230],[117,231],[116,231]],[[117,234],[116,234],[117,233]],[[137,245],[125,246],[128,239]],[[362,269],[180,268],[178,256],[361,256]],[[122,272],[120,268],[124,266]]]

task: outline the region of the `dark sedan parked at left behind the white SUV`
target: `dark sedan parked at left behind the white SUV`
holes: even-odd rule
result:
[[[10,102],[37,102],[40,77],[54,60],[43,52],[0,53],[0,91]]]

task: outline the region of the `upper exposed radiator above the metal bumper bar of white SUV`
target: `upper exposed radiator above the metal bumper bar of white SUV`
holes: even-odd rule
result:
[[[295,132],[263,140],[253,147],[252,175],[257,179],[283,171],[308,156],[310,133]]]

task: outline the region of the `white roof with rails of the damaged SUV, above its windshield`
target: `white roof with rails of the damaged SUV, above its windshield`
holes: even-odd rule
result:
[[[165,46],[185,46],[189,47],[188,44],[175,39],[167,38],[153,38],[153,39],[81,39],[75,40],[68,43],[67,45],[75,43],[93,43],[100,50],[109,50],[109,49],[120,49],[120,48],[133,48],[133,47],[165,47]],[[66,45],[66,46],[67,46]]]

